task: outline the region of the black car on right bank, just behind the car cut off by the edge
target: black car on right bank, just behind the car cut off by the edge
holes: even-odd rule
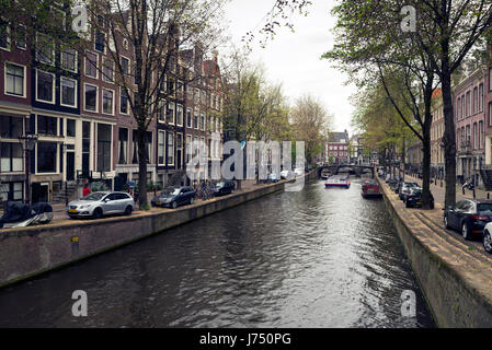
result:
[[[446,208],[444,212],[446,229],[461,232],[465,240],[470,240],[474,234],[483,234],[483,229],[491,221],[492,200],[465,199],[455,207]]]

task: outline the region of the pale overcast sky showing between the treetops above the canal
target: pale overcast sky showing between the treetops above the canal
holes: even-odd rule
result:
[[[272,9],[275,0],[231,0],[226,8],[229,21],[229,35],[239,45],[249,31],[261,28],[262,20]],[[346,75],[332,68],[321,55],[333,46],[331,28],[335,19],[330,10],[331,0],[312,0],[307,18],[293,19],[295,33],[281,28],[266,48],[253,47],[251,59],[262,62],[267,78],[283,83],[284,93],[294,101],[297,96],[311,94],[321,100],[327,109],[334,115],[333,131],[347,129],[351,132],[353,106],[350,96],[354,85],[345,85]],[[352,133],[352,132],[351,132]]]

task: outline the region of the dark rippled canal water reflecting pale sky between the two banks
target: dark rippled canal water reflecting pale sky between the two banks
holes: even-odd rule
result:
[[[384,201],[359,191],[307,184],[0,290],[0,327],[434,327]]]

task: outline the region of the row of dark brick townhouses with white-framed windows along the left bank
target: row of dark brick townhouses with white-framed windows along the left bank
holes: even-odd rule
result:
[[[126,79],[136,88],[131,80],[138,74],[129,73],[131,43],[117,36],[110,44],[118,46],[119,63],[128,72],[122,78],[108,55],[107,33],[92,31],[90,48],[81,55],[55,42],[45,45],[52,39],[41,33],[34,49],[14,42],[11,31],[0,32],[0,202],[52,201],[82,178],[114,189],[137,180],[137,122],[117,83]],[[220,161],[222,154],[217,57],[204,60],[199,49],[178,56],[160,88],[167,98],[147,132],[147,182],[162,186],[190,184],[185,163],[193,156],[192,141],[205,142],[210,160]],[[197,79],[185,81],[188,73]],[[35,142],[22,141],[32,135]],[[205,170],[198,178],[207,175]]]

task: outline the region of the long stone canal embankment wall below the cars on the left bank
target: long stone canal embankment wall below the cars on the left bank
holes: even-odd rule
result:
[[[306,180],[318,178],[318,172]],[[194,220],[282,191],[288,182],[258,185],[229,196],[175,210],[131,217],[62,221],[0,231],[0,288],[159,234]]]

